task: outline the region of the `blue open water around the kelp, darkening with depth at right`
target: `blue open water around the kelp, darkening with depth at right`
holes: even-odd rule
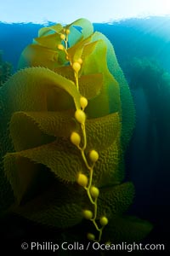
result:
[[[37,37],[40,27],[0,23],[0,49],[3,60],[12,63],[13,73],[20,53]],[[150,241],[165,243],[170,233],[169,27],[169,17],[94,24],[94,30],[111,40],[136,108],[136,127],[126,155],[127,179],[136,189],[129,212],[154,224]]]

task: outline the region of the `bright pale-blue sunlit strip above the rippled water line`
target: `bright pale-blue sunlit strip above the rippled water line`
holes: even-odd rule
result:
[[[3,22],[108,22],[149,15],[170,15],[170,0],[4,0],[0,7]]]

